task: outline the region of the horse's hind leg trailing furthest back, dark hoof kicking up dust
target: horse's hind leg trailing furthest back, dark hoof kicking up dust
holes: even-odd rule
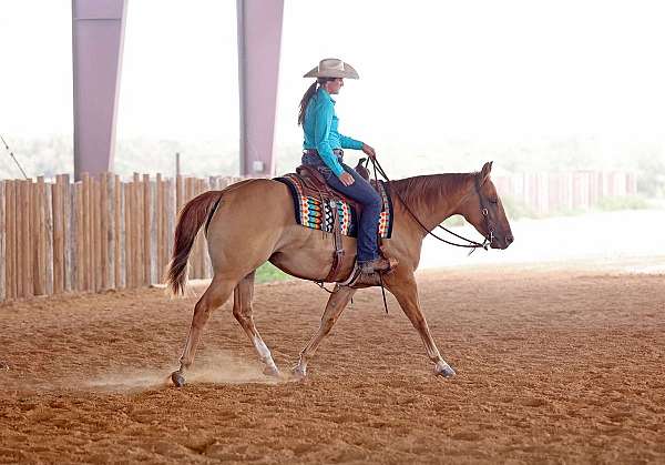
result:
[[[177,371],[171,374],[173,384],[182,387],[185,384],[185,370],[192,365],[198,341],[201,340],[201,333],[205,326],[208,317],[213,310],[222,306],[224,302],[231,296],[233,289],[236,283],[229,280],[222,280],[213,277],[213,282],[201,296],[196,306],[194,306],[194,315],[192,316],[192,326],[187,334],[187,342],[185,343],[185,350],[180,358],[181,366]]]

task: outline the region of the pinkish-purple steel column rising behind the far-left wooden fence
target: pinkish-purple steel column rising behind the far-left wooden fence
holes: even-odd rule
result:
[[[126,0],[72,0],[74,176],[113,170]]]

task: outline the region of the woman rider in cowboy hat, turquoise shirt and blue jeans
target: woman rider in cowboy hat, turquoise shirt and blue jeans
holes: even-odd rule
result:
[[[377,229],[382,200],[377,191],[352,168],[342,162],[342,149],[362,150],[375,158],[368,144],[337,132],[339,120],[335,114],[335,100],[344,79],[358,79],[358,73],[348,63],[335,58],[321,60],[318,67],[304,75],[316,78],[300,101],[298,124],[303,125],[303,164],[315,166],[328,185],[362,204],[358,224],[358,266],[366,274],[390,269],[390,262],[379,254]]]

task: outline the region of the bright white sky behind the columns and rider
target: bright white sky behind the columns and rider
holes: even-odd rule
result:
[[[130,0],[117,138],[238,139],[236,2]],[[665,3],[286,0],[276,144],[319,59],[351,63],[340,130],[375,145],[665,141]],[[72,132],[71,1],[0,0],[0,134]]]

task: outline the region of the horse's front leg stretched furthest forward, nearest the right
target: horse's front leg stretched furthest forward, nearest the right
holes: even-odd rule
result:
[[[451,377],[454,376],[454,370],[446,363],[437,345],[434,344],[434,340],[429,331],[429,326],[427,325],[427,320],[420,310],[420,302],[418,300],[418,286],[416,285],[416,279],[413,277],[413,273],[409,272],[402,274],[390,275],[387,280],[388,290],[395,295],[402,311],[406,313],[407,317],[411,321],[411,324],[422,337],[422,342],[424,343],[424,348],[427,351],[427,355],[429,358],[434,362],[434,373],[439,376]]]

